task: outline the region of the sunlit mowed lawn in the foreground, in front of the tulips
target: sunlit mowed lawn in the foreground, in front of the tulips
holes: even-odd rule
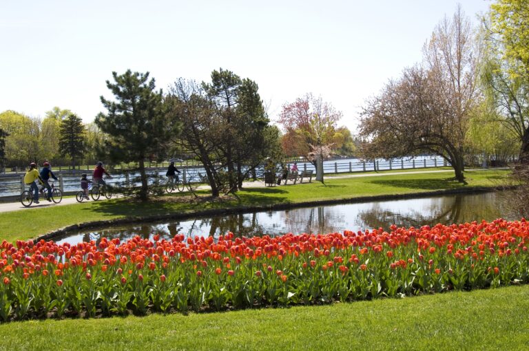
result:
[[[529,286],[184,316],[0,325],[0,350],[528,350]]]

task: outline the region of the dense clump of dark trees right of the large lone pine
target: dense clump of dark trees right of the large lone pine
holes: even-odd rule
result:
[[[176,143],[203,163],[213,196],[242,189],[242,181],[280,149],[258,85],[233,72],[211,73],[211,83],[178,79],[167,96],[182,125]]]

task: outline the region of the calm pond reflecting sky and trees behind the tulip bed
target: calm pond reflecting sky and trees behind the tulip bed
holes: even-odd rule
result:
[[[371,228],[388,230],[397,226],[423,226],[437,223],[452,224],[474,220],[508,218],[508,193],[478,193],[444,195],[433,198],[373,201],[351,204],[315,206],[286,211],[236,213],[216,217],[197,217],[193,220],[167,220],[113,226],[105,229],[81,231],[57,240],[58,243],[98,240],[118,237],[129,240],[135,235],[152,238],[176,234],[187,236],[218,235],[231,231],[237,236],[282,235],[284,233],[333,233],[364,231]]]

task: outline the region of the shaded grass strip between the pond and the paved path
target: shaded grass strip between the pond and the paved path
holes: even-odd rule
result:
[[[111,220],[123,217],[145,217],[171,213],[193,213],[205,209],[233,209],[245,206],[272,206],[323,200],[355,199],[374,195],[422,193],[473,187],[497,187],[510,183],[510,171],[486,170],[466,173],[468,184],[452,180],[453,171],[412,173],[359,178],[328,179],[324,184],[295,184],[279,187],[255,187],[234,196],[211,200],[203,192],[199,200],[184,200],[185,195],[167,195],[149,202],[115,199],[85,202],[43,209],[22,209],[0,213],[0,240],[27,240],[43,233],[76,223]]]

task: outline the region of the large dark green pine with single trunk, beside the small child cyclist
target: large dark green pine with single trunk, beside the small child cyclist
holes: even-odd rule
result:
[[[167,140],[172,138],[174,127],[165,120],[162,91],[155,91],[154,78],[127,70],[118,76],[112,72],[114,82],[107,87],[114,100],[101,96],[107,114],[98,114],[95,123],[108,134],[105,151],[116,162],[137,162],[141,177],[139,196],[147,199],[147,173],[145,160],[158,155]]]

